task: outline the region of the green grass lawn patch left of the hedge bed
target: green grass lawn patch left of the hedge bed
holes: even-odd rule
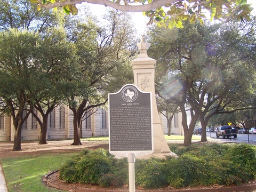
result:
[[[74,154],[47,153],[36,156],[19,156],[2,159],[2,166],[11,191],[61,191],[48,188],[42,182],[42,177],[59,167]]]

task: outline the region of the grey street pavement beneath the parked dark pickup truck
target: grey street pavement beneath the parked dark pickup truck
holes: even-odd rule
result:
[[[223,141],[231,140],[231,141],[234,141],[234,142],[250,143],[250,144],[256,145],[256,134],[238,133],[236,139],[234,137],[225,138],[225,139],[222,139],[222,137],[216,138],[216,133],[215,132],[206,132],[206,135],[207,135],[207,137],[210,137],[212,139],[218,139],[218,140],[223,140]]]

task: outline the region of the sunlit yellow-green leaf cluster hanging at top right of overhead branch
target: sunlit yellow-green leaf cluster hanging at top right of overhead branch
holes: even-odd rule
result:
[[[249,14],[253,10],[244,0],[213,0],[201,3],[187,0],[177,1],[165,7],[169,7],[169,10],[160,8],[144,12],[150,18],[148,25],[156,23],[158,27],[183,28],[182,20],[189,20],[190,23],[198,20],[203,25],[203,18],[205,18],[203,10],[210,11],[210,21],[213,19],[230,20],[233,15],[239,20],[250,20]],[[239,7],[238,11],[236,11],[237,7]]]

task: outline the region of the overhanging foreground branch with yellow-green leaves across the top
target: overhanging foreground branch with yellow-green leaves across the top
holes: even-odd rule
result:
[[[229,21],[236,17],[238,20],[250,20],[250,12],[253,8],[246,0],[29,0],[41,7],[51,9],[62,7],[67,14],[76,15],[76,4],[83,2],[105,5],[124,12],[143,12],[150,18],[149,23],[157,23],[158,26],[183,28],[182,20],[191,23],[199,20],[203,23],[205,11],[210,13],[210,20],[218,19]]]

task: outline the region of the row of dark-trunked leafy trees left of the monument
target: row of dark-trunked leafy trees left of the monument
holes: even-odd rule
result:
[[[132,79],[129,58],[137,47],[131,20],[125,20],[130,14],[109,9],[106,26],[100,26],[89,13],[68,17],[60,11],[38,12],[23,0],[0,2],[6,13],[0,17],[0,112],[12,115],[13,150],[21,150],[29,114],[40,125],[39,144],[46,144],[48,116],[61,104],[73,111],[76,145],[80,132],[75,128],[84,114]]]

